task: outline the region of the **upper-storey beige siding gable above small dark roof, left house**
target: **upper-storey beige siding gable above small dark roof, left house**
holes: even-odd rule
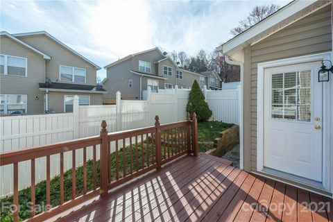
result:
[[[33,35],[19,37],[19,39],[51,57],[51,60],[46,62],[46,77],[51,78],[52,82],[60,82],[59,67],[60,65],[65,65],[86,69],[86,83],[77,84],[96,85],[96,68],[49,37],[45,35]],[[72,82],[64,81],[63,83]]]

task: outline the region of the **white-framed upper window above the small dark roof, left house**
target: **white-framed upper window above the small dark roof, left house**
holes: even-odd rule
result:
[[[85,83],[85,69],[60,65],[60,80],[65,82]]]

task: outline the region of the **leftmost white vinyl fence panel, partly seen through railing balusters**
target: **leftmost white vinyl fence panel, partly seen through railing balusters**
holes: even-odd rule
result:
[[[28,116],[0,117],[0,151],[15,151],[32,146],[41,146],[74,139],[73,114],[40,114]],[[58,162],[58,156],[51,156],[53,162]],[[65,159],[66,160],[66,159]],[[40,182],[46,178],[45,160],[36,159],[36,180]],[[30,162],[19,164],[19,189],[31,185],[28,173],[31,171]],[[0,196],[12,192],[12,167],[0,168]],[[59,168],[51,166],[51,176],[56,176]],[[6,182],[5,182],[6,181]]]

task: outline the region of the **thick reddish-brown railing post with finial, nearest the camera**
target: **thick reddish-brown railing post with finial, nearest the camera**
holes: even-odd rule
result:
[[[101,196],[108,194],[108,175],[109,175],[109,151],[108,151],[108,130],[106,129],[106,121],[102,121],[101,129],[101,160],[100,160],[100,179],[101,179]]]

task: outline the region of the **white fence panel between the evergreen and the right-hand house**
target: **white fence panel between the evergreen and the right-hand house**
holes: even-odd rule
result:
[[[207,91],[206,101],[214,120],[239,124],[239,89]]]

